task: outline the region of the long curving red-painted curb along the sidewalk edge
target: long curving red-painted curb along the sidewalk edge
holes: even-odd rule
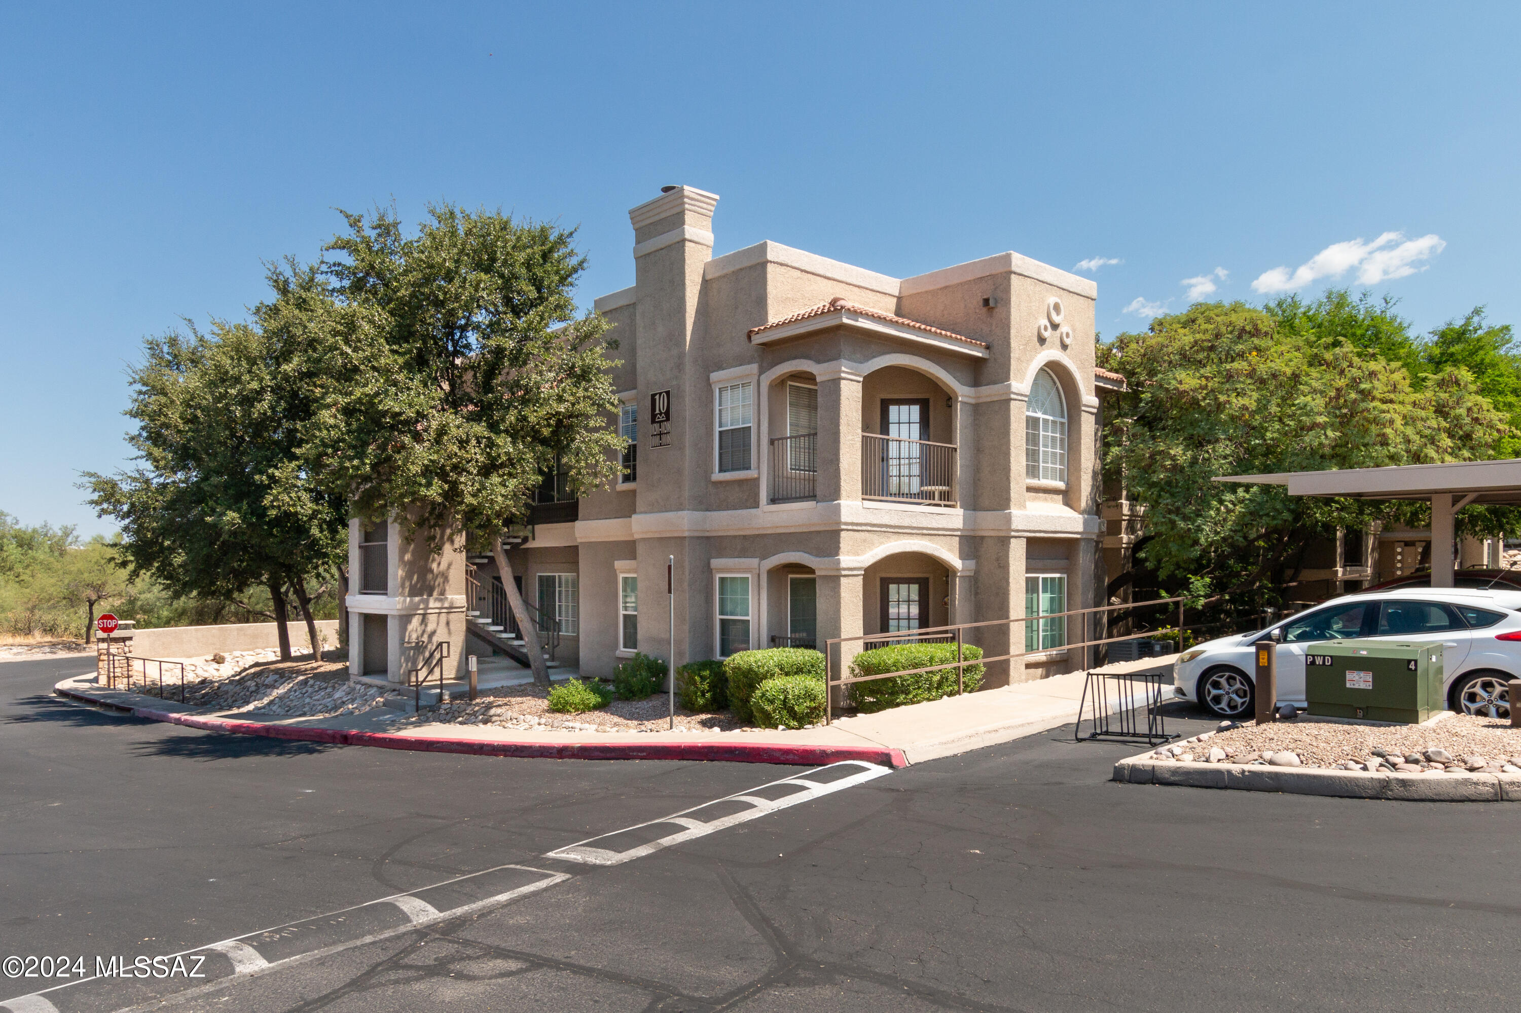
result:
[[[370,745],[382,750],[414,750],[418,753],[465,753],[468,756],[520,756],[535,759],[672,759],[729,761],[738,764],[788,764],[818,767],[840,761],[864,761],[887,767],[908,767],[902,750],[872,745],[800,745],[794,742],[493,742],[484,739],[435,739],[421,735],[389,732],[344,732],[341,729],[295,729],[259,721],[227,721],[198,718],[149,707],[123,707],[108,700],[96,700],[75,689],[55,686],[61,697],[85,703],[131,710],[134,716],[181,724],[204,732],[230,735],[262,735],[269,739],[298,742],[330,742],[333,745]]]

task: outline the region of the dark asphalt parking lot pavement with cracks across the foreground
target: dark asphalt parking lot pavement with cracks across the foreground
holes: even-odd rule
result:
[[[0,665],[0,955],[300,960],[58,1010],[1498,1010],[1521,984],[1521,806],[1118,785],[1139,748],[1065,729],[598,865],[549,855],[808,771],[219,736],[50,695],[85,668]],[[447,917],[371,903],[395,896]]]

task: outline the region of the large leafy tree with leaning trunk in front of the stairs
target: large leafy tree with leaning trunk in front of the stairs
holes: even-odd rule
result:
[[[589,490],[624,444],[607,424],[607,324],[575,312],[586,262],[573,233],[450,204],[429,207],[415,234],[389,210],[345,219],[321,265],[327,295],[278,310],[303,336],[319,399],[303,461],[365,520],[397,519],[435,549],[462,535],[490,551],[548,686],[502,532],[546,473]],[[287,287],[304,277],[292,269]]]

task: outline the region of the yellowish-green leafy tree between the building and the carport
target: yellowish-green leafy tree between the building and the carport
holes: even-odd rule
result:
[[[1217,476],[1483,459],[1507,437],[1466,368],[1411,376],[1387,306],[1320,309],[1202,303],[1101,347],[1130,385],[1106,467],[1145,508],[1144,563],[1174,587],[1252,590],[1310,538],[1411,510]]]

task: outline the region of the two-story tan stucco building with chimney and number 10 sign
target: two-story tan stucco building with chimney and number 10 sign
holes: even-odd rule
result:
[[[558,665],[607,677],[634,651],[681,665],[1101,604],[1097,388],[1124,380],[1094,367],[1095,283],[1015,252],[913,278],[773,242],[713,257],[716,204],[666,187],[628,213],[634,284],[596,300],[622,481],[576,500],[548,479],[511,540]],[[351,543],[353,674],[405,678],[409,642],[502,648],[488,557],[429,558],[397,525],[356,522]],[[1025,625],[967,637],[1033,651],[989,684],[1081,665],[1083,624]]]

